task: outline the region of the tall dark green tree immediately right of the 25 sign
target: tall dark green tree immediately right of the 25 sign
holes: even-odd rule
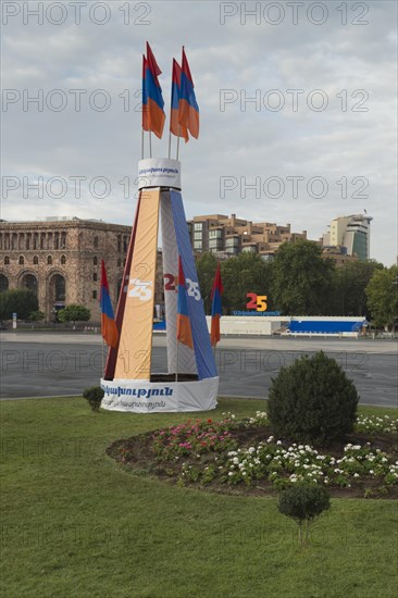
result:
[[[335,263],[313,241],[284,242],[272,264],[272,297],[284,314],[331,313]]]

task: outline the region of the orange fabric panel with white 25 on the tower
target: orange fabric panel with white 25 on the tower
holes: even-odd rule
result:
[[[116,379],[149,381],[152,353],[154,279],[160,188],[144,189],[121,327]]]

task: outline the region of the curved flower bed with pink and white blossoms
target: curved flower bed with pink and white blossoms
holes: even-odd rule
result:
[[[119,462],[179,485],[274,493],[299,481],[326,485],[334,496],[398,497],[397,420],[359,418],[356,431],[327,449],[274,438],[266,413],[157,429],[117,440]]]

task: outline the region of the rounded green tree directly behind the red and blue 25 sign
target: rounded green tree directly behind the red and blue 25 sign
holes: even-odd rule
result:
[[[242,252],[221,264],[224,294],[223,304],[227,310],[246,310],[247,294],[266,295],[268,311],[272,310],[271,265],[257,253]]]

